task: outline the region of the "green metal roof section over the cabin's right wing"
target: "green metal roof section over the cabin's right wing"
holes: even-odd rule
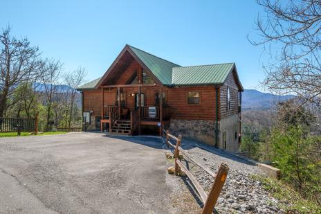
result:
[[[235,63],[175,67],[172,84],[223,84]]]

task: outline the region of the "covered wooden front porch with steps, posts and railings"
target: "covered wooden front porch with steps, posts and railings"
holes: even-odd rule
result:
[[[164,125],[169,123],[169,106],[166,105],[163,87],[156,84],[125,84],[103,86],[101,91],[102,132],[133,135],[141,134],[142,126],[154,126],[162,135]],[[116,105],[106,105],[106,100]]]

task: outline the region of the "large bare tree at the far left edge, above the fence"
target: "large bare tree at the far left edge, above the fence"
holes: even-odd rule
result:
[[[8,107],[8,96],[21,83],[39,75],[39,51],[28,39],[16,39],[11,28],[0,35],[0,116]]]

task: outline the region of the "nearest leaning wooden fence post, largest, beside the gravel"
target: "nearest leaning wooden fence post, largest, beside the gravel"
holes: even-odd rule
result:
[[[226,177],[228,176],[228,170],[228,166],[225,163],[221,163],[217,177],[215,177],[214,184],[204,204],[202,214],[212,214],[213,208],[215,204],[217,204],[219,193],[221,193]]]

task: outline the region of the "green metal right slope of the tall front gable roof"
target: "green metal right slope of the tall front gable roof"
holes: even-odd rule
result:
[[[172,84],[172,69],[179,66],[173,62],[163,60],[160,57],[156,57],[150,53],[142,51],[133,46],[129,46],[132,51],[138,56],[140,60],[152,71],[152,73],[162,82],[163,84]]]

